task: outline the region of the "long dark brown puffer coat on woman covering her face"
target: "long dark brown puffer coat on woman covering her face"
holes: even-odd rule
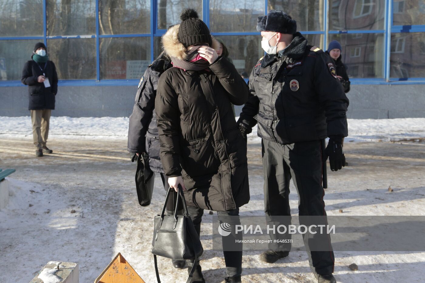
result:
[[[177,39],[178,27],[164,37]],[[185,50],[178,42],[165,42],[172,58]],[[170,68],[159,78],[155,110],[161,161],[167,176],[182,175],[188,205],[228,211],[248,203],[246,142],[231,106],[247,99],[244,79],[224,57],[210,71]]]

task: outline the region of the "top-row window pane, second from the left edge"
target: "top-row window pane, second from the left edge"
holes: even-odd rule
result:
[[[96,34],[96,0],[47,0],[47,35]]]

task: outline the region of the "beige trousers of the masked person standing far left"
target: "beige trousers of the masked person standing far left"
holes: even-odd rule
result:
[[[50,109],[30,110],[32,122],[32,140],[34,146],[42,148],[46,146],[49,134]]]

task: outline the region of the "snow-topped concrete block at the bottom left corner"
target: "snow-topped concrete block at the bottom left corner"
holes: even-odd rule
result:
[[[78,263],[50,261],[30,283],[48,282],[79,283]]]

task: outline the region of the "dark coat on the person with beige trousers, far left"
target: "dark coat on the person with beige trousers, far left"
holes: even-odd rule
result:
[[[56,66],[52,61],[45,64],[44,66],[44,63],[37,64],[34,60],[29,60],[22,70],[21,82],[28,85],[29,110],[54,109],[58,82]],[[45,88],[44,83],[37,81],[38,76],[43,73],[49,79],[50,88]]]

